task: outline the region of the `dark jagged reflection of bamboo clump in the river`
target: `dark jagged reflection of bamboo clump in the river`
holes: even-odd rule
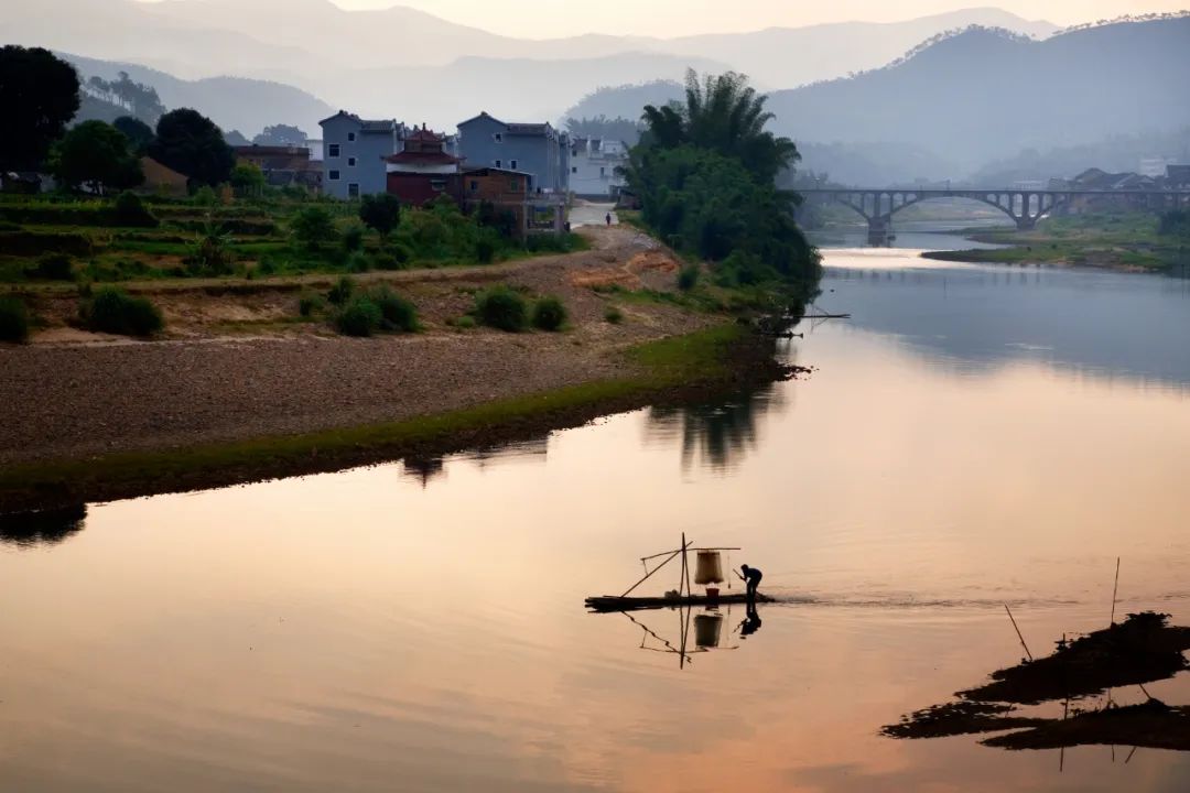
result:
[[[757,420],[783,405],[783,390],[766,385],[712,403],[654,407],[649,409],[646,433],[657,440],[681,439],[683,468],[699,458],[715,471],[726,471],[756,446]]]

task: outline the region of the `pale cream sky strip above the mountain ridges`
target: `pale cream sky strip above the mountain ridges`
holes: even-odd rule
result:
[[[344,8],[403,5],[518,38],[580,33],[685,36],[829,21],[896,21],[995,5],[1026,19],[1073,25],[1123,14],[1178,11],[1190,0],[332,0]]]

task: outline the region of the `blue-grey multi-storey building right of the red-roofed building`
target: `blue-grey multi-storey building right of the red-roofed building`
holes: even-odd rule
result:
[[[468,170],[528,174],[533,193],[565,194],[570,189],[570,141],[547,122],[507,124],[480,113],[458,125],[457,146]]]

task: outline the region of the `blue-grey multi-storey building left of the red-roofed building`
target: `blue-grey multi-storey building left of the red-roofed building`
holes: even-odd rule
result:
[[[401,150],[405,127],[392,119],[368,120],[339,111],[322,127],[322,191],[358,199],[388,190],[384,161]]]

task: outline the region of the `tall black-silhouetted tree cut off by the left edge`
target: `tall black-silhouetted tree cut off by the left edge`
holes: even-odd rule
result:
[[[0,48],[0,170],[33,170],[79,112],[79,75],[49,50]]]

